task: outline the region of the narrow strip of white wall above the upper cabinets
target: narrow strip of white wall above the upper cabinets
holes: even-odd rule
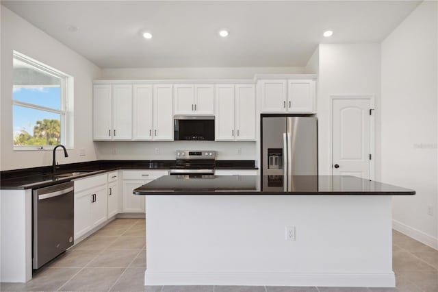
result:
[[[253,79],[255,74],[300,74],[303,67],[102,69],[103,79]]]

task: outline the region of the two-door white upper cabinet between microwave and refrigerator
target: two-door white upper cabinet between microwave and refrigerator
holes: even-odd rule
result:
[[[216,141],[255,141],[253,84],[216,85]]]

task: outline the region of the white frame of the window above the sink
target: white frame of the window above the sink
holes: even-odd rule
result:
[[[25,56],[23,53],[19,53],[18,51],[13,51],[13,58],[16,60],[19,60],[21,62],[24,62],[31,66],[36,71],[40,71],[47,75],[52,75],[53,77],[60,78],[61,80],[61,101],[60,101],[60,110],[57,110],[55,108],[47,108],[44,106],[39,106],[37,104],[29,104],[27,102],[18,101],[14,99],[14,95],[12,94],[12,108],[14,106],[21,106],[23,108],[31,108],[34,110],[42,110],[44,112],[51,112],[55,114],[60,114],[60,131],[61,131],[61,137],[60,137],[60,144],[64,145],[67,149],[73,149],[74,148],[74,111],[73,111],[73,84],[74,84],[74,78],[70,75],[67,75],[66,73],[63,73],[57,69],[54,69],[51,66],[48,66],[46,64],[43,64],[42,62],[39,62],[33,58],[30,58],[28,56]],[[13,87],[19,87],[19,88],[26,88],[26,87],[35,87],[35,86],[14,86]],[[13,112],[13,110],[12,110]],[[14,121],[12,120],[12,128],[14,128]],[[29,133],[31,134],[31,133]],[[12,135],[14,135],[14,130],[12,130]],[[12,136],[12,146],[14,148],[14,151],[23,151],[23,150],[53,150],[53,148],[56,145],[14,145],[14,136]]]

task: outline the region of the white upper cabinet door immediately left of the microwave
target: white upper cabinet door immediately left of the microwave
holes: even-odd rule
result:
[[[153,140],[173,141],[172,85],[154,85]]]

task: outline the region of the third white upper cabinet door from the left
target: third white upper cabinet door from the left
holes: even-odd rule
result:
[[[133,86],[133,139],[152,140],[152,85]]]

